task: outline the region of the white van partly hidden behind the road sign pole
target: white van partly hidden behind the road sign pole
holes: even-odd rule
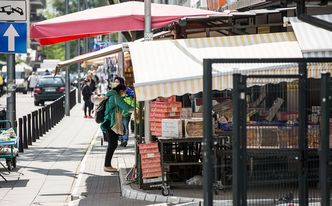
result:
[[[1,69],[2,76],[5,83],[7,83],[7,67],[3,66]],[[32,67],[25,63],[15,65],[15,79],[16,79],[16,91],[26,94],[28,91],[28,77],[32,72]]]

